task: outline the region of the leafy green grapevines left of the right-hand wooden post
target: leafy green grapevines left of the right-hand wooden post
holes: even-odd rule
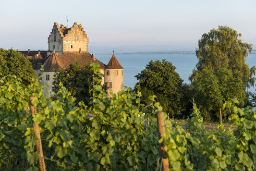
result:
[[[98,84],[102,77],[99,64],[91,66],[90,108],[83,102],[76,104],[64,87],[60,87],[58,99],[52,101],[46,99],[38,83],[22,88],[16,77],[1,79],[1,169],[38,170],[37,139],[32,127],[36,122],[40,126],[47,170],[155,170],[156,124],[145,124],[138,107],[142,106],[141,93],[134,94],[129,89],[107,97]],[[26,111],[29,95],[35,96],[32,104],[37,114],[33,117]],[[133,105],[133,101],[137,104]],[[152,104],[147,115],[155,115],[161,109],[159,103]]]

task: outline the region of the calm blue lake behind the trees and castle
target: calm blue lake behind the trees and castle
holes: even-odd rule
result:
[[[95,55],[97,59],[107,65],[109,59],[112,55]],[[193,68],[196,66],[198,59],[195,54],[163,54],[163,55],[115,55],[121,66],[124,67],[124,85],[127,87],[134,88],[138,80],[135,76],[145,69],[145,66],[150,62],[150,60],[162,60],[173,63],[176,67],[176,72],[179,74],[184,83],[189,83],[188,77],[192,74]],[[256,66],[256,54],[250,54],[246,58],[246,63],[252,67]],[[255,91],[255,88],[251,89]]]

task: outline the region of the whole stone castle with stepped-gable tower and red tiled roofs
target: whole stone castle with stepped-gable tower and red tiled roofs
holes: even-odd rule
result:
[[[124,83],[124,68],[119,64],[114,55],[105,65],[100,60],[96,59],[94,54],[88,52],[88,41],[86,32],[81,24],[77,22],[71,28],[64,27],[54,23],[53,29],[48,37],[48,51],[19,51],[31,62],[36,75],[41,77],[39,80],[42,85],[48,84],[50,87],[45,87],[46,94],[50,95],[54,91],[52,84],[54,72],[58,68],[69,68],[69,64],[80,63],[99,63],[100,72],[104,75],[102,84],[108,83],[108,92],[112,90],[117,94],[123,89]]]

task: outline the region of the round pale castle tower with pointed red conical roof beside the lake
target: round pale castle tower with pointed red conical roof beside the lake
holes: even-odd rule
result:
[[[104,75],[105,82],[108,82],[108,87],[113,91],[114,94],[117,94],[118,91],[123,90],[124,68],[119,64],[116,56],[114,55],[114,51],[106,66]]]

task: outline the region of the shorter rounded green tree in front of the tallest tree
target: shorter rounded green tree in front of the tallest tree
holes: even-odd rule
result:
[[[246,99],[245,85],[241,78],[234,78],[231,71],[221,68],[214,72],[208,70],[202,77],[199,77],[192,83],[194,101],[204,111],[205,117],[210,117],[209,112],[215,113],[222,122],[222,107],[229,98],[237,98],[240,105],[244,104]],[[224,116],[226,114],[224,113]],[[207,118],[206,118],[207,119]]]

